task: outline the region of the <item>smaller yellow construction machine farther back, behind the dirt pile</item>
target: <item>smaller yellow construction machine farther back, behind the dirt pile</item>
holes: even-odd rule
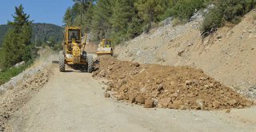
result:
[[[98,57],[113,56],[114,50],[112,41],[110,39],[102,39],[102,42],[98,44],[98,50],[96,54]]]

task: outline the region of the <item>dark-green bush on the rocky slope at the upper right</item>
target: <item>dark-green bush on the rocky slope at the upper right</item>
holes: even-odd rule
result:
[[[225,22],[237,24],[241,17],[255,7],[255,0],[226,0],[216,2],[215,8],[206,14],[202,24],[202,33],[211,33]]]

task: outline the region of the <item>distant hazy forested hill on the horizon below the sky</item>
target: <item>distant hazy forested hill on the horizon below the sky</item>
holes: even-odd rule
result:
[[[0,46],[2,46],[4,35],[9,28],[10,26],[0,25]],[[54,24],[34,23],[32,34],[32,42],[35,42],[35,39],[37,43],[46,42],[50,38],[53,38],[55,42],[61,42],[63,38],[63,28]]]

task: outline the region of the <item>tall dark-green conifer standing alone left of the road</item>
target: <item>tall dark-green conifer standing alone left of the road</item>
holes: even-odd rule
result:
[[[32,22],[29,20],[30,15],[25,14],[23,10],[22,5],[15,7],[14,22],[8,22],[12,28],[8,30],[2,47],[6,68],[32,58]]]

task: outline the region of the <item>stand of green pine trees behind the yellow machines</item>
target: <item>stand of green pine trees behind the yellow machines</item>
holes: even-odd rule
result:
[[[187,22],[210,0],[74,0],[66,10],[66,26],[82,26],[95,41],[114,38],[116,43],[148,32],[174,16]]]

